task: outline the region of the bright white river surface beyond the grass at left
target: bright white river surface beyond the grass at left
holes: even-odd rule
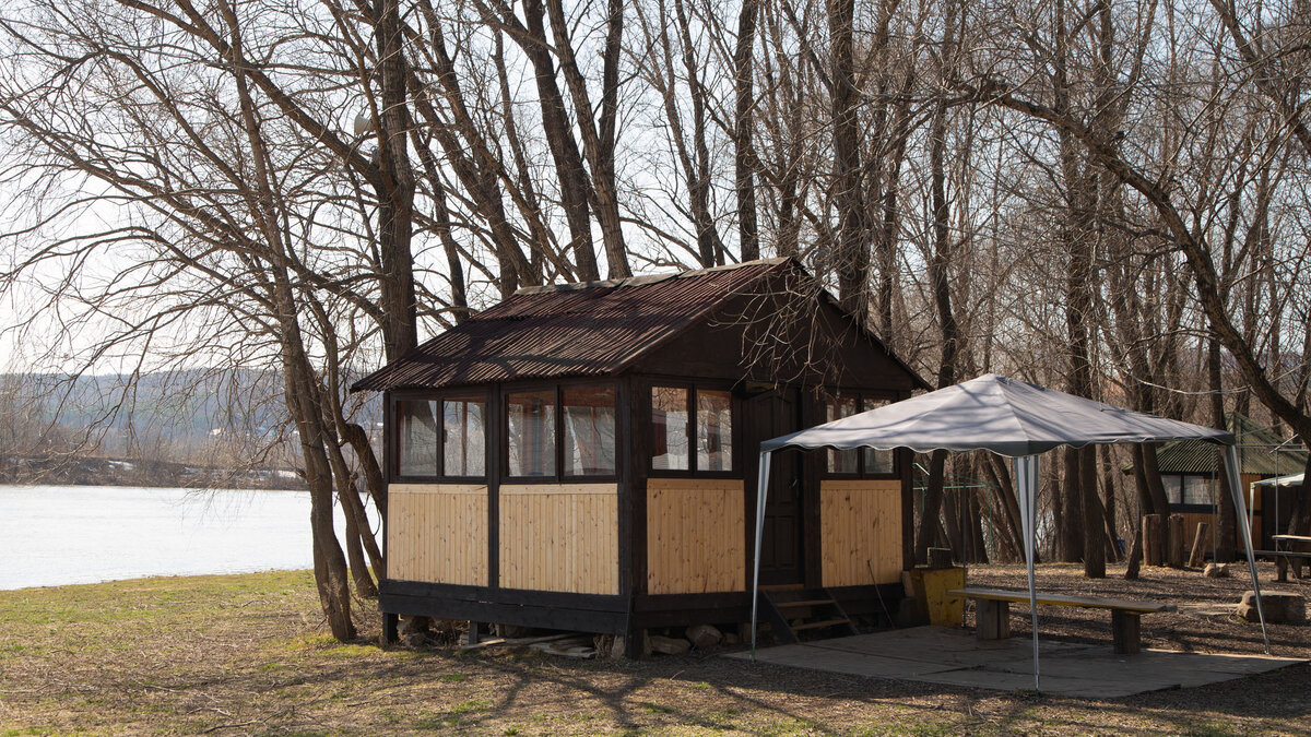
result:
[[[0,485],[0,589],[312,565],[307,492]]]

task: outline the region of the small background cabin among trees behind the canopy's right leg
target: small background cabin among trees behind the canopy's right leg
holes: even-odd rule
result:
[[[1289,442],[1236,412],[1226,414],[1224,421],[1238,438],[1239,477],[1252,525],[1252,546],[1274,549],[1270,536],[1287,531],[1295,492],[1268,487],[1252,489],[1252,484],[1301,473],[1306,468],[1307,451],[1301,443]],[[1230,504],[1221,496],[1218,475],[1223,471],[1215,446],[1188,441],[1165,443],[1156,450],[1156,467],[1171,514],[1184,515],[1185,538],[1192,542],[1197,525],[1202,522],[1210,525],[1214,534],[1217,513],[1213,500]],[[1243,540],[1236,534],[1230,543],[1243,549]]]

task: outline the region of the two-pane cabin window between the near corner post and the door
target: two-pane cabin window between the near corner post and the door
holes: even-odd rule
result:
[[[733,393],[652,387],[652,471],[730,473]]]

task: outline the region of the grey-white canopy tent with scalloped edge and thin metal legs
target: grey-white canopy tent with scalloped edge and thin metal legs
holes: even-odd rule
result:
[[[768,501],[770,459],[785,448],[852,450],[872,447],[891,450],[907,447],[916,452],[935,450],[986,450],[1015,459],[1016,494],[1024,534],[1024,559],[1028,565],[1029,605],[1033,618],[1033,687],[1038,688],[1038,611],[1033,578],[1033,547],[1037,527],[1038,455],[1061,446],[1082,447],[1092,443],[1154,443],[1179,439],[1206,441],[1224,447],[1224,472],[1230,481],[1239,530],[1248,560],[1252,557],[1252,534],[1239,483],[1238,454],[1234,435],[1224,430],[1202,428],[1131,412],[1129,409],[1076,397],[1007,379],[996,374],[979,376],[953,387],[889,404],[871,412],[817,425],[760,443],[760,475],[755,508],[755,577],[751,585],[751,654],[755,657],[756,608],[760,588],[760,542],[764,528],[764,506]],[[1265,611],[1261,589],[1252,570],[1252,590],[1261,619],[1265,650]]]

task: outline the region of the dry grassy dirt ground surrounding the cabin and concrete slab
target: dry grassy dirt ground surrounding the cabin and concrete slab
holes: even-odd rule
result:
[[[1047,591],[1167,601],[1146,647],[1257,653],[1239,577],[1145,569],[1087,581],[1046,565]],[[1262,584],[1273,568],[1262,565]],[[1023,588],[1020,568],[970,584]],[[1306,582],[1269,585],[1307,593]],[[305,572],[151,578],[0,591],[0,736],[13,734],[960,734],[1311,733],[1311,666],[1202,688],[1079,700],[822,674],[720,657],[576,661],[524,652],[333,641]],[[1027,632],[1025,607],[1012,629]],[[1044,608],[1044,637],[1108,643],[1104,611]],[[970,618],[971,619],[971,618]],[[1311,627],[1272,626],[1273,653],[1311,658]]]

